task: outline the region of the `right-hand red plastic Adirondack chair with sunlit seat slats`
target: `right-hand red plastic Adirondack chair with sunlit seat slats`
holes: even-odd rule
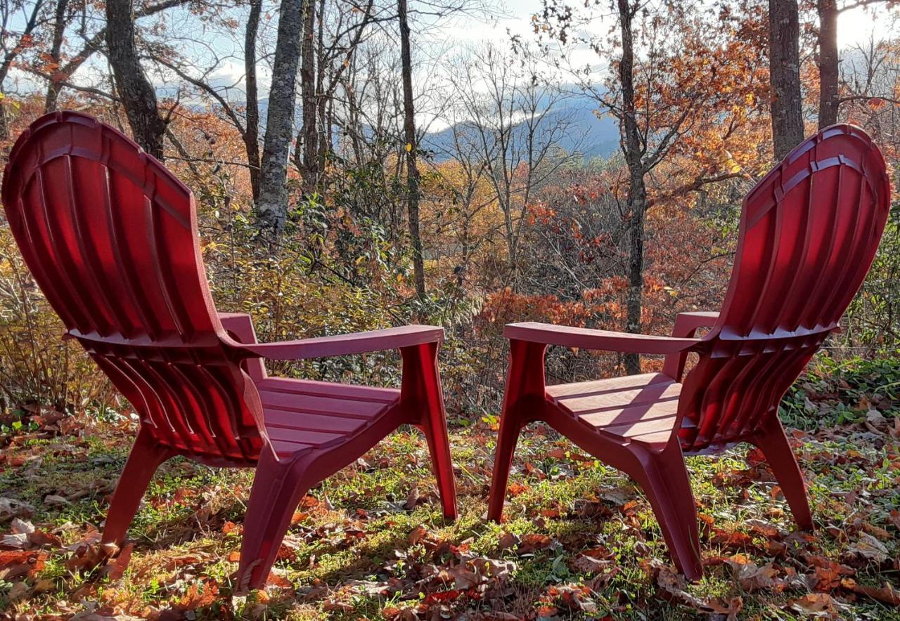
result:
[[[521,427],[546,421],[641,485],[672,557],[703,574],[683,454],[761,448],[797,524],[813,528],[803,475],[778,417],[782,395],[860,288],[887,220],[878,148],[836,125],[797,146],[743,202],[734,271],[719,313],[681,313],[671,337],[510,324],[509,377],[489,518],[499,520]],[[698,328],[709,327],[701,339]],[[662,373],[545,386],[548,345],[665,354]],[[698,363],[682,382],[688,352]]]

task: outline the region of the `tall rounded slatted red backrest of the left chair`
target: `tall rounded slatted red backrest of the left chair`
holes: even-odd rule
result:
[[[31,274],[159,442],[253,462],[258,395],[221,342],[193,195],[120,131],[77,112],[36,120],[3,183]]]

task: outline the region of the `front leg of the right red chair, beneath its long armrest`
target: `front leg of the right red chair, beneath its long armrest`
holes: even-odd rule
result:
[[[500,434],[494,455],[494,475],[488,505],[488,519],[499,522],[506,501],[509,468],[516,451],[518,434],[527,422],[534,420],[532,409],[545,400],[543,343],[512,340],[509,342],[509,372],[500,413]]]

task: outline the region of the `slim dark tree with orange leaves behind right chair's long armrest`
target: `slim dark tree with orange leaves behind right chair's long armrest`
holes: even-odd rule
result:
[[[622,194],[626,198],[620,208],[627,246],[619,252],[627,283],[626,330],[637,332],[644,308],[647,212],[656,201],[746,174],[734,155],[747,148],[742,129],[756,116],[756,102],[764,100],[756,67],[766,45],[752,36],[753,29],[748,36],[734,37],[741,28],[730,11],[711,15],[696,4],[645,0],[611,4],[617,20],[613,37],[590,34],[597,31],[590,22],[606,17],[595,4],[582,11],[565,0],[545,0],[545,21],[535,30],[540,40],[551,37],[602,58],[618,57],[602,85],[581,62],[568,70],[599,111],[618,120],[626,171],[608,191],[617,201]],[[716,122],[704,122],[709,119]],[[660,172],[673,156],[684,153],[693,154],[691,170]],[[627,355],[623,361],[628,372],[639,372],[638,356]]]

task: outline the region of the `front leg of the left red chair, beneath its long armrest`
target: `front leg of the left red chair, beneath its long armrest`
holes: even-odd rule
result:
[[[401,402],[410,408],[412,420],[428,441],[431,469],[437,481],[444,517],[456,519],[456,482],[447,435],[444,392],[437,368],[437,342],[405,347],[401,349],[401,355]]]

